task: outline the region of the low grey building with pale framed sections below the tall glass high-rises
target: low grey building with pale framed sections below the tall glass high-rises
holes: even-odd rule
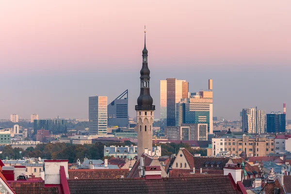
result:
[[[207,141],[207,124],[182,124],[178,127],[165,127],[168,140]]]

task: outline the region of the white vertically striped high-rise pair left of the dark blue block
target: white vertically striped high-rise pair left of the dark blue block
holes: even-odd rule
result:
[[[242,131],[248,133],[264,133],[266,128],[266,112],[256,108],[242,109]]]

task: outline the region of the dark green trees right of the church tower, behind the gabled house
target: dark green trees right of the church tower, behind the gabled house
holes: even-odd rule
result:
[[[189,144],[175,144],[175,143],[167,143],[167,144],[158,144],[162,148],[162,156],[171,156],[172,154],[177,154],[180,147],[184,147],[187,149],[192,155],[201,154],[201,156],[207,156],[206,149],[193,149]]]

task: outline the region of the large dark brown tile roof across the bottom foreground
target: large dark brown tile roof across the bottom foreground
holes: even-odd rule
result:
[[[70,179],[70,194],[241,194],[231,175],[188,178]],[[240,187],[243,193],[245,189]]]

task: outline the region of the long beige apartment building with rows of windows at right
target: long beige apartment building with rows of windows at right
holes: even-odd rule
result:
[[[275,137],[251,137],[243,134],[242,138],[212,138],[212,155],[228,151],[232,156],[240,156],[242,151],[246,157],[267,156],[275,152]]]

